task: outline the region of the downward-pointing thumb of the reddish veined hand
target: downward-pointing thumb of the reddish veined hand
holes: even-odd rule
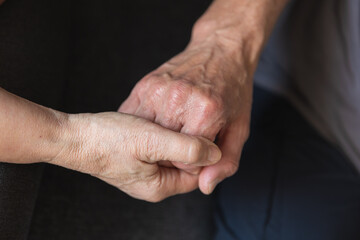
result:
[[[243,145],[248,136],[248,130],[232,125],[219,136],[219,147],[223,153],[221,160],[204,167],[200,173],[199,187],[204,194],[210,194],[216,185],[225,178],[232,176],[238,169]]]

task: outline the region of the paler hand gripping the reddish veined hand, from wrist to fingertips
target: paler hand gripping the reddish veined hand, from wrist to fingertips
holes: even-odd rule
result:
[[[120,113],[70,115],[61,139],[70,142],[50,163],[91,174],[135,198],[157,202],[197,188],[198,176],[159,160],[206,166],[221,152],[204,138],[175,133]]]

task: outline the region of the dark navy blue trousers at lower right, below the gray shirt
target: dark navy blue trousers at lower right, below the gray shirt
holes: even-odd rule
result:
[[[360,176],[283,98],[255,88],[238,173],[217,189],[217,240],[360,239]]]

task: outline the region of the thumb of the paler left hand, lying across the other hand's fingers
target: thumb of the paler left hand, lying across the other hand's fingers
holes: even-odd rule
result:
[[[141,133],[139,134],[141,136]],[[209,140],[187,136],[155,124],[152,130],[145,132],[145,137],[138,141],[138,144],[138,158],[149,163],[168,160],[193,166],[207,166],[221,158],[220,149]]]

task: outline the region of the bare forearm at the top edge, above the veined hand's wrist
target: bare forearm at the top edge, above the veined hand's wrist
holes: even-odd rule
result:
[[[190,46],[204,41],[216,42],[225,53],[255,68],[261,49],[287,2],[215,0],[195,23]]]

